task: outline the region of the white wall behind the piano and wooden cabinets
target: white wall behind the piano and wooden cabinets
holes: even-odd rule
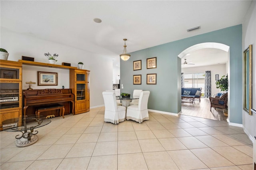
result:
[[[35,61],[48,63],[44,53],[57,53],[57,65],[62,62],[71,63],[72,67],[77,67],[78,62],[84,63],[84,69],[90,70],[90,107],[104,105],[102,91],[112,89],[113,63],[111,57],[104,57],[88,51],[68,47],[60,43],[49,42],[34,38],[25,34],[15,33],[5,28],[1,28],[1,48],[8,51],[8,60],[18,61],[23,56],[34,57]],[[69,88],[69,70],[54,69],[48,67],[37,67],[23,65],[22,89],[27,89],[26,81],[37,82],[37,71],[48,71],[58,73],[58,86],[37,86],[33,89],[46,88]]]

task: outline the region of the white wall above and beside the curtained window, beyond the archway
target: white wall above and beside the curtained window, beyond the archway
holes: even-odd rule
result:
[[[219,75],[219,79],[222,75],[227,74],[226,64],[218,64],[218,65],[207,65],[202,67],[189,67],[189,68],[181,68],[181,72],[185,74],[190,73],[205,73],[205,71],[211,71],[211,83],[212,83],[212,95],[219,93],[220,89],[216,88],[216,80],[215,75]]]

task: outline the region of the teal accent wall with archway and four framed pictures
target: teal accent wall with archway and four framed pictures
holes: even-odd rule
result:
[[[181,59],[178,55],[192,45],[205,42],[223,43],[230,47],[229,120],[231,123],[242,124],[242,25],[130,53],[131,57],[128,61],[120,60],[120,84],[124,87],[121,92],[132,94],[134,89],[149,90],[148,109],[179,113]],[[157,67],[147,69],[146,59],[152,57],[157,57]],[[133,71],[133,61],[137,60],[142,60],[142,69]],[[146,75],[151,73],[157,74],[156,85],[146,84]],[[141,85],[133,85],[133,75],[142,75]]]

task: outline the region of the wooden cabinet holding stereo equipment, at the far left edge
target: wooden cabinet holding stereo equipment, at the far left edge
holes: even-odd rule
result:
[[[0,60],[0,128],[2,121],[22,116],[22,63]]]

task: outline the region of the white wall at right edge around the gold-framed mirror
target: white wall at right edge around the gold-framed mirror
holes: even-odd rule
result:
[[[252,4],[244,17],[242,24],[242,48],[246,50],[252,44],[252,108],[256,109],[256,1]],[[242,62],[241,56],[241,62]],[[242,80],[241,80],[242,82]],[[241,103],[242,105],[242,103]],[[253,139],[256,135],[256,114],[248,115],[247,112],[242,110],[243,127],[248,136]]]

